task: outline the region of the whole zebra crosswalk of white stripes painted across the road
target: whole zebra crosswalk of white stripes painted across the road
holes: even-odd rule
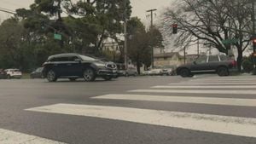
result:
[[[226,95],[236,95],[236,98]],[[247,98],[247,95],[251,96],[251,98]],[[252,98],[253,96],[255,98]],[[194,105],[203,104],[205,107],[212,105],[217,107],[256,107],[256,77],[192,78],[178,84],[155,85],[148,89],[131,89],[123,94],[98,95],[90,99],[97,101],[156,101]],[[73,115],[84,118],[106,118],[113,121],[119,120],[138,124],[159,125],[167,128],[198,130],[213,134],[256,138],[256,118],[241,118],[196,112],[176,112],[150,108],[68,103],[31,107],[25,109],[25,111]],[[11,139],[4,139],[4,133],[19,135],[22,141],[26,141],[27,138],[27,141],[31,139],[33,141],[43,141],[41,143],[55,144],[59,142],[0,129],[0,143],[13,141]],[[29,142],[24,143],[28,144]]]

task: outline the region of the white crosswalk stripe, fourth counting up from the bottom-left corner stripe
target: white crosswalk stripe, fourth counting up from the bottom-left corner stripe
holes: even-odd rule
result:
[[[138,93],[177,93],[177,94],[233,94],[256,95],[256,90],[189,90],[189,89],[134,89],[128,92]]]

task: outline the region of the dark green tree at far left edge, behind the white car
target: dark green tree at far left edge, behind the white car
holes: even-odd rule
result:
[[[10,18],[3,21],[0,26],[1,67],[27,70],[33,65],[30,61],[32,49],[26,43],[27,36],[28,32],[19,20]]]

